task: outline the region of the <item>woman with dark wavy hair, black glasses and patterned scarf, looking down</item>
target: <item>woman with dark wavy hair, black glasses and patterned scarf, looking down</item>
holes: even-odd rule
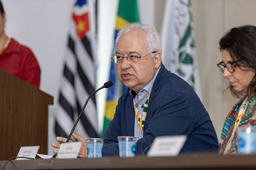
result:
[[[219,144],[219,154],[236,154],[238,127],[256,126],[256,27],[230,29],[220,39],[219,49],[222,62],[217,65],[229,80],[232,95],[244,96],[226,117]]]

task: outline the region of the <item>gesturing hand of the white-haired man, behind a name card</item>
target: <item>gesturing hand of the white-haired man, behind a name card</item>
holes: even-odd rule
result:
[[[81,149],[80,149],[80,152],[79,152],[78,156],[82,157],[82,158],[87,158],[87,142],[86,142],[86,140],[82,136],[76,135],[74,133],[72,134],[72,136],[76,140],[78,140],[79,142],[82,142],[82,146],[81,146]],[[57,137],[56,140],[59,141],[59,142],[65,143],[67,138]],[[69,140],[69,142],[73,142],[73,141]],[[60,148],[60,145],[61,144],[59,144],[59,143],[52,143],[52,147],[57,148],[57,149]],[[59,150],[57,150],[57,149],[54,149],[53,153],[58,153]]]

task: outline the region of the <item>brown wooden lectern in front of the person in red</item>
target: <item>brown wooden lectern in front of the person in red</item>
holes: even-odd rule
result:
[[[22,146],[47,154],[49,104],[52,96],[0,69],[0,160],[16,157]]]

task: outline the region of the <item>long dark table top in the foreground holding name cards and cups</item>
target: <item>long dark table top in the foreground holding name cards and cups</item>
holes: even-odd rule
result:
[[[12,160],[5,170],[256,170],[256,155],[178,155],[177,157],[105,157]],[[0,169],[6,161],[0,161]]]

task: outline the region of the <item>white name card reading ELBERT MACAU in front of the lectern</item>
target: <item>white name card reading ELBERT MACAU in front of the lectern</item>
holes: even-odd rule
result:
[[[36,158],[39,147],[40,146],[22,146],[17,157]],[[16,158],[15,160],[25,160],[26,158]]]

